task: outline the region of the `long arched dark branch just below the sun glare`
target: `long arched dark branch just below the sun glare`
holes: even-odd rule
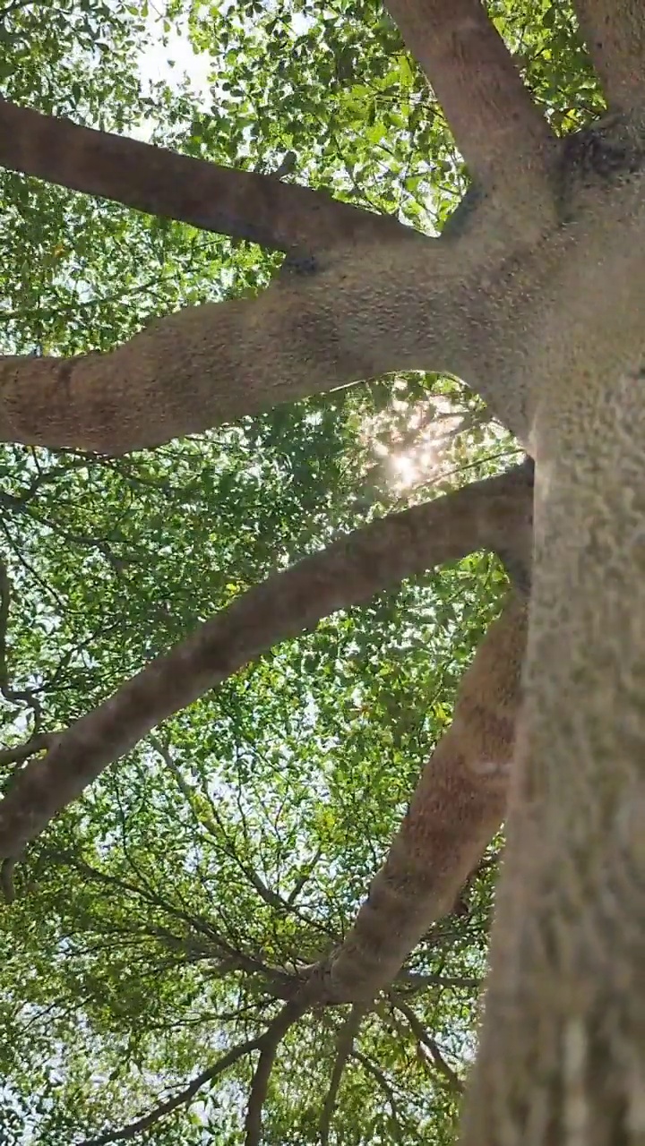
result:
[[[339,609],[475,549],[522,535],[533,493],[524,466],[374,521],[275,573],[55,737],[0,803],[0,856],[15,857],[57,811],[160,721],[279,641]],[[475,856],[476,858],[476,856]]]

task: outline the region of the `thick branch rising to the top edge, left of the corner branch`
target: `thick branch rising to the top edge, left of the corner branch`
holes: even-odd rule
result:
[[[386,0],[473,175],[508,197],[554,146],[481,0]]]

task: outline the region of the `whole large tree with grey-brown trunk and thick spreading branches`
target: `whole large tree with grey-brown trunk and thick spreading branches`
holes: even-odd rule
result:
[[[0,370],[6,440],[119,454],[389,371],[450,370],[535,458],[524,697],[466,1144],[537,1146],[577,1136],[608,1146],[619,1139],[636,1144],[643,1135],[643,403],[637,386],[645,21],[629,0],[611,7],[577,0],[574,9],[608,115],[592,115],[578,129],[558,134],[562,124],[550,123],[530,99],[516,62],[475,0],[388,5],[441,101],[473,181],[441,238],[274,176],[151,152],[132,140],[0,104],[5,166],[287,252],[285,269],[257,298],[179,311],[102,354],[7,356]],[[550,6],[542,15],[551,48],[560,33],[558,16]],[[468,541],[456,541],[445,527],[433,551],[421,556],[410,517],[372,525],[360,539],[339,542],[318,562],[295,566],[240,598],[227,617],[207,622],[69,731],[45,733],[21,749],[23,759],[34,751],[46,754],[17,772],[5,798],[6,876],[52,814],[160,719],[267,644],[311,623],[313,592],[320,607],[337,609],[468,548],[511,551],[511,566],[519,562],[523,570],[529,486],[518,477],[460,490],[443,509],[430,503],[432,524],[442,512],[454,515],[452,526],[468,517]],[[391,540],[381,541],[388,529],[396,549]],[[351,597],[337,591],[339,570],[353,584]],[[297,590],[303,581],[309,591],[295,598],[298,617],[289,598],[287,607],[277,609],[275,629],[247,646],[240,637],[248,631],[247,610],[259,604],[266,615],[267,601],[280,604],[280,587]],[[325,604],[321,586],[328,590]],[[259,1052],[249,1143],[258,1140],[272,1061],[290,1027],[314,1004],[355,999],[360,1007],[387,986],[494,832],[504,777],[499,756],[495,769],[481,767],[491,763],[490,717],[482,721],[481,708],[498,716],[500,689],[503,719],[490,744],[504,745],[506,760],[515,733],[513,666],[523,645],[522,615],[523,604],[518,609],[513,597],[471,669],[474,681],[480,658],[494,664],[492,683],[469,707],[466,677],[457,706],[452,748],[448,741],[445,751],[457,763],[464,756],[467,775],[459,792],[466,792],[467,780],[466,806],[479,813],[461,823],[449,878],[437,866],[433,887],[419,886],[421,861],[428,862],[433,839],[443,846],[446,826],[445,802],[422,779],[340,951],[298,968],[300,986],[287,991],[282,1011],[262,1036],[238,1049]],[[232,650],[226,658],[218,643],[223,633]],[[504,656],[499,636],[508,633],[512,658]],[[474,758],[464,747],[471,737]],[[476,784],[468,768],[473,759]],[[352,1021],[359,1021],[358,1012]],[[350,1046],[351,1022],[345,1036]]]

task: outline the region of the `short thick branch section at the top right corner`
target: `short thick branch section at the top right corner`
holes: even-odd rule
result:
[[[581,32],[611,111],[645,102],[645,9],[642,0],[574,0]]]

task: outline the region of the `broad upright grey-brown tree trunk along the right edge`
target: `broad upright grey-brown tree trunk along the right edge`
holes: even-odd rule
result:
[[[544,329],[527,699],[464,1146],[645,1143],[645,260],[619,227],[570,282],[566,352]]]

